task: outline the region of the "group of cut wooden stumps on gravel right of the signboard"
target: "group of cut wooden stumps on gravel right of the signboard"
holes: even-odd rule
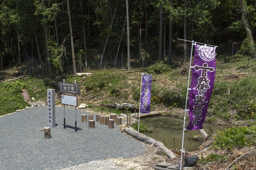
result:
[[[82,114],[82,122],[87,122],[87,114]],[[102,114],[96,114],[96,122],[100,125],[108,125],[108,128],[114,128],[114,122],[116,125],[122,124],[122,117],[117,117],[116,113],[111,113],[110,116],[103,116]],[[95,120],[93,120],[93,115],[88,115],[88,125],[89,128],[95,128]]]

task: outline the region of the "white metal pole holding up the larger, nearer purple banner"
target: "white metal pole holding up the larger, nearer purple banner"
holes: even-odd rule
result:
[[[192,46],[191,46],[190,63],[189,63],[189,78],[190,78],[190,70],[191,70],[191,68],[193,68],[193,66],[191,66],[193,45],[196,45],[196,42],[194,43],[194,41],[192,41]],[[191,90],[189,88],[189,78],[188,78],[188,86],[187,86],[187,94],[186,94],[186,105],[185,105],[184,123],[183,123],[183,135],[182,135],[181,157],[180,157],[180,170],[183,170],[183,157],[184,157],[184,153],[185,153],[185,151],[183,150],[184,133],[185,133],[185,130],[186,130],[185,129],[185,121],[186,121],[186,111],[188,111],[187,110],[188,94],[189,94],[189,90]]]

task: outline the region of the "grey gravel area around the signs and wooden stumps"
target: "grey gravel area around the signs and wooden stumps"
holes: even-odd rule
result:
[[[51,128],[51,139],[44,139],[40,131],[48,126],[47,106],[0,117],[0,170],[88,169],[85,165],[89,162],[90,167],[102,162],[111,164],[97,160],[131,158],[145,153],[143,143],[120,133],[117,125],[109,129],[108,125],[95,122],[95,128],[89,128],[88,122],[81,122],[81,114],[87,114],[88,120],[88,114],[93,113],[77,109],[75,132],[75,109],[66,107],[65,129],[63,107],[56,106],[55,110],[57,126]],[[93,119],[96,120],[95,114]],[[119,169],[109,167],[108,170],[115,168]]]

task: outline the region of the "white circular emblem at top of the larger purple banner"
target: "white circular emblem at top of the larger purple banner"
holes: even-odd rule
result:
[[[197,52],[199,57],[204,61],[210,62],[215,59],[215,47],[198,45]]]

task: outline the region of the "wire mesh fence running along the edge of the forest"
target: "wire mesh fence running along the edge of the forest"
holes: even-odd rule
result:
[[[218,55],[233,56],[239,51],[241,42],[230,42],[218,45],[216,48],[216,58]],[[181,49],[182,48],[182,49]],[[180,62],[183,59],[183,47],[172,51],[172,62]],[[168,52],[163,52],[162,59],[168,57]],[[81,56],[76,58],[76,72],[87,72],[90,70],[100,69],[127,69],[128,60],[127,53],[120,54],[105,54],[95,56]],[[40,74],[38,57],[29,57],[24,55],[24,60],[27,60],[29,74]],[[130,68],[145,68],[153,65],[158,61],[157,51],[143,51],[141,53],[130,53]],[[73,73],[72,57],[62,58],[62,68],[64,73]]]

